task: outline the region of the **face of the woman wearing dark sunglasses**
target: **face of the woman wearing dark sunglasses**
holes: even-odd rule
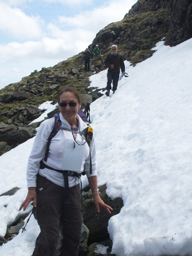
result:
[[[76,106],[70,107],[69,103],[74,103],[74,102],[76,102]],[[78,103],[78,99],[75,96],[75,94],[73,92],[64,92],[60,96],[59,103],[67,103],[66,107],[61,107],[61,106],[59,107],[62,116],[67,120],[72,120],[72,119],[76,120],[76,114],[79,108],[81,107],[81,104]]]

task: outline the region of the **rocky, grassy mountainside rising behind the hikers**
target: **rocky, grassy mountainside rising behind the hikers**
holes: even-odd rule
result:
[[[92,51],[99,44],[105,58],[110,46],[117,44],[124,60],[135,65],[152,56],[151,48],[163,38],[166,44],[173,46],[191,36],[192,0],[138,0],[123,20],[100,30],[89,48]],[[96,63],[96,72],[104,68],[100,61]],[[94,70],[93,65],[91,70]],[[88,76],[92,73],[84,72],[80,52],[0,90],[0,154],[35,135],[33,128],[39,124],[31,127],[28,124],[40,116],[39,104],[46,100],[56,102],[60,88],[74,86],[81,94],[91,96],[89,101],[98,98],[100,93],[88,89]]]

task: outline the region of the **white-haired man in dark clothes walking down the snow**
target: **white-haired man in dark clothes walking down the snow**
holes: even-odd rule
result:
[[[107,96],[110,94],[110,90],[112,89],[113,93],[115,93],[117,89],[117,84],[121,72],[125,72],[124,60],[120,53],[117,52],[117,46],[115,44],[111,47],[112,53],[110,53],[104,61],[104,64],[108,67],[107,73],[107,92],[105,93]],[[112,83],[112,87],[111,87]]]

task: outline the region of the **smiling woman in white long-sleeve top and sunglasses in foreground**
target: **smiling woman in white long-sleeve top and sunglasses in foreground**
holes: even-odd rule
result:
[[[60,232],[63,236],[60,255],[78,255],[82,227],[78,174],[83,171],[88,177],[97,212],[100,212],[100,207],[108,213],[112,211],[100,198],[97,188],[94,136],[88,145],[80,134],[80,131],[87,128],[87,124],[77,114],[81,107],[80,96],[74,88],[64,88],[58,95],[58,103],[60,129],[51,140],[48,158],[45,160],[55,118],[44,120],[40,124],[28,159],[28,194],[19,209],[25,210],[33,201],[40,234],[32,256],[54,256]]]

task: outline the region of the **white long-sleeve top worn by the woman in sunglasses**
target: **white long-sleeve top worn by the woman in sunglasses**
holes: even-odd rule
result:
[[[84,130],[87,125],[77,115],[79,120],[80,131]],[[70,125],[67,120],[64,119],[60,113],[61,127],[70,129]],[[55,118],[45,120],[40,124],[36,138],[32,147],[31,154],[28,159],[27,167],[27,183],[29,187],[36,187],[36,175],[39,173],[41,176],[46,177],[53,183],[64,187],[64,177],[60,172],[50,170],[48,168],[40,169],[40,161],[44,160],[45,151],[47,147],[48,137],[54,126]],[[89,146],[84,143],[83,136],[77,133],[76,141],[72,135],[72,132],[60,129],[56,136],[51,140],[49,147],[47,161],[44,162],[49,167],[58,170],[70,170],[74,172],[86,172],[88,177],[96,176],[96,149],[94,136]],[[79,144],[79,145],[78,145]],[[74,147],[75,146],[75,147]],[[92,174],[89,172],[90,157],[89,150],[92,158]],[[77,177],[68,177],[69,187],[73,187],[80,182]]]

